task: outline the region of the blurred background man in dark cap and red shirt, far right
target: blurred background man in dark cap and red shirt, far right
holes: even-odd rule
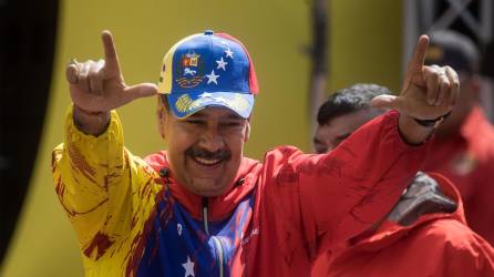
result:
[[[494,245],[494,129],[478,104],[478,50],[453,31],[431,34],[429,64],[450,64],[459,72],[461,90],[451,115],[438,129],[434,152],[424,168],[443,174],[459,188],[469,226]]]

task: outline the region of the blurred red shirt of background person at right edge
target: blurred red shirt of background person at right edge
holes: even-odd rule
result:
[[[494,245],[494,129],[481,107],[457,135],[433,141],[424,170],[439,172],[459,188],[469,226]]]

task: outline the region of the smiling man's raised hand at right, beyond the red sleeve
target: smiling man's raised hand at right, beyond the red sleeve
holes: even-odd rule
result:
[[[420,37],[400,95],[377,96],[372,106],[395,109],[418,120],[434,120],[453,109],[460,91],[457,74],[450,66],[424,65],[428,47],[429,38]]]

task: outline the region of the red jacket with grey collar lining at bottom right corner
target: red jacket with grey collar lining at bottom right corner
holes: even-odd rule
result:
[[[320,256],[312,276],[494,276],[494,249],[466,226],[455,187],[442,175],[425,176],[415,179],[374,230]]]

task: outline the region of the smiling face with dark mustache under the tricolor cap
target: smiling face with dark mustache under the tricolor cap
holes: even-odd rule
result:
[[[234,184],[248,140],[249,122],[226,107],[206,107],[186,119],[166,112],[162,133],[177,181],[202,196],[226,193]]]

